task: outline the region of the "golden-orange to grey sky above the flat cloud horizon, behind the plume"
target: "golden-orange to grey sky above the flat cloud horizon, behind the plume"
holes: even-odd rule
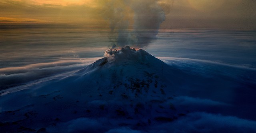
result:
[[[256,0],[1,0],[0,23],[111,25],[121,17],[132,27],[145,3],[164,10],[161,28],[256,29]]]

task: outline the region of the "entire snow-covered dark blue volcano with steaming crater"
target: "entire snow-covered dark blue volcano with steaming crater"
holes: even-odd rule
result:
[[[3,91],[0,129],[2,133],[254,132],[255,109],[246,109],[255,104],[254,90],[239,93],[243,87],[226,76],[194,74],[143,49],[125,46],[107,50],[104,58],[75,73]],[[239,101],[241,97],[247,98]]]

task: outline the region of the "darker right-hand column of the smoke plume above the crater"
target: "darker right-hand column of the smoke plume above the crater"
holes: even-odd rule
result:
[[[160,24],[165,20],[165,13],[156,0],[140,1],[133,5],[134,32],[137,38],[135,46],[147,46],[156,39]]]

